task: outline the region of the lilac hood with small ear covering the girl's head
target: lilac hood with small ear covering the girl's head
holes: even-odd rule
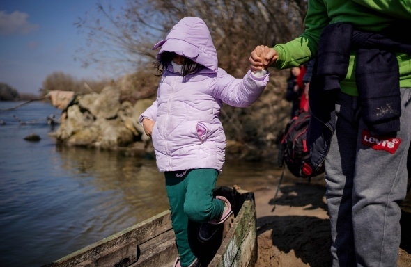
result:
[[[173,26],[165,40],[157,42],[153,50],[161,47],[157,54],[160,60],[164,51],[185,56],[195,63],[217,72],[217,51],[212,42],[206,22],[199,17],[185,17]]]

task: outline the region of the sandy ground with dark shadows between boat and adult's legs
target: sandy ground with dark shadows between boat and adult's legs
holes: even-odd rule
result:
[[[256,185],[254,188],[258,236],[256,266],[332,266],[323,177],[315,177],[309,184],[307,179],[285,177],[273,201],[276,190],[277,185]],[[411,192],[407,199],[411,200]],[[410,267],[411,209],[408,212],[403,209],[401,228],[398,267]]]

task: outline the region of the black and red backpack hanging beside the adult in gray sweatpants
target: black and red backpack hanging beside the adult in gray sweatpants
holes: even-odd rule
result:
[[[307,147],[307,129],[310,113],[300,110],[286,125],[280,136],[278,164],[287,165],[288,170],[296,177],[311,178],[324,172],[324,165],[314,170]]]

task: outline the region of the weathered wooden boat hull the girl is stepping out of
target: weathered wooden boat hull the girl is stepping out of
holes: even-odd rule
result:
[[[222,186],[216,188],[215,195],[223,195],[234,203],[233,215],[207,243],[196,238],[199,223],[190,222],[194,254],[202,266],[254,266],[257,259],[254,193]],[[164,211],[43,267],[171,267],[176,257],[170,211]]]

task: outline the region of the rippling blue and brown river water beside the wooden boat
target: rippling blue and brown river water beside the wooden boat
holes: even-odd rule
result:
[[[154,160],[59,147],[51,114],[61,111],[42,102],[0,111],[1,266],[40,267],[169,209]],[[41,140],[24,140],[32,133]],[[279,175],[265,163],[228,162],[217,185],[247,189]]]

